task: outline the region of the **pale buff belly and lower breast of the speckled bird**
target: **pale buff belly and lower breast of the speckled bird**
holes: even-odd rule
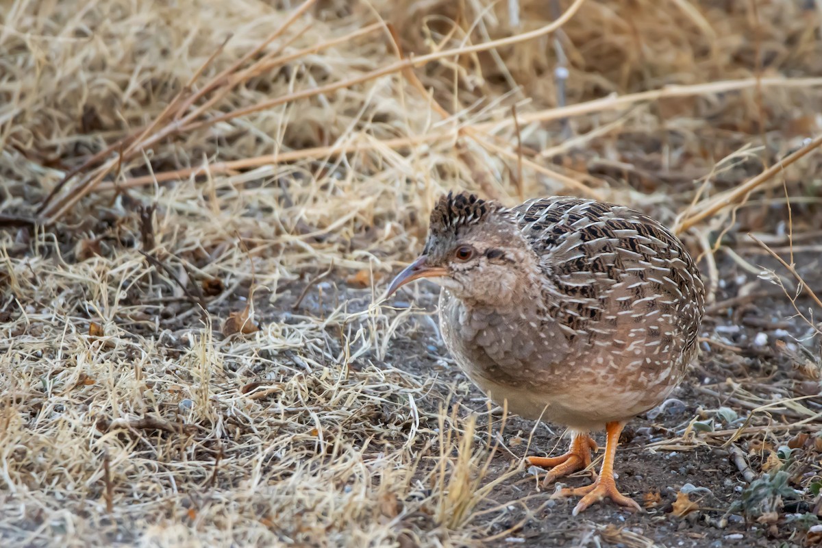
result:
[[[461,315],[462,317],[457,317]],[[560,333],[538,332],[510,318],[467,318],[456,300],[441,301],[441,329],[455,361],[494,403],[521,417],[602,429],[655,407],[681,380],[684,365],[655,371],[604,348],[574,348]],[[678,364],[677,364],[678,365]]]

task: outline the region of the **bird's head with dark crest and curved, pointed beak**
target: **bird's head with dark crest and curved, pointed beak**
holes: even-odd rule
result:
[[[465,301],[499,306],[521,292],[524,276],[535,266],[536,256],[511,210],[449,192],[432,210],[422,255],[397,275],[386,297],[427,278]]]

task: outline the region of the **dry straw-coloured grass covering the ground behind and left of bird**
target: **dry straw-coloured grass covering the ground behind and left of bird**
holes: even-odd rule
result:
[[[728,237],[787,258],[786,204],[791,246],[822,211],[822,13],[802,3],[561,2],[557,107],[543,2],[515,28],[487,0],[7,2],[0,537],[503,538],[501,424],[475,427],[450,411],[464,385],[409,367],[426,315],[374,306],[386,275],[452,187],[678,219],[714,291]]]

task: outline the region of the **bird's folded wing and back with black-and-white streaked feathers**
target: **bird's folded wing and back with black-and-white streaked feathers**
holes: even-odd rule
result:
[[[616,348],[695,343],[704,286],[662,224],[625,206],[561,196],[513,212],[543,271],[545,320],[566,337],[616,340]]]

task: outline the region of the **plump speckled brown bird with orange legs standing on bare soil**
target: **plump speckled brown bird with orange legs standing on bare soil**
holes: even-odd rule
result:
[[[548,486],[584,470],[606,432],[603,463],[573,514],[617,490],[614,461],[632,418],[662,403],[698,352],[705,288],[686,246],[625,205],[548,196],[506,207],[467,191],[434,205],[422,254],[386,290],[441,287],[439,325],[459,368],[497,405],[566,426],[570,447],[529,456]]]

